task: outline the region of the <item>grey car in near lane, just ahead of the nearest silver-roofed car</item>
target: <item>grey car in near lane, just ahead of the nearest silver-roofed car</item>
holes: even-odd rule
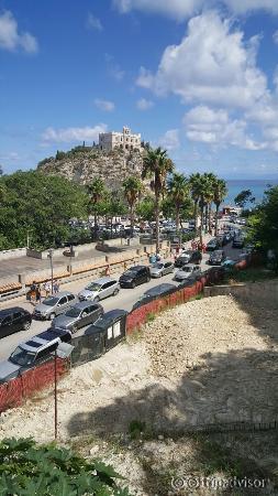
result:
[[[79,328],[93,324],[103,313],[103,308],[100,304],[81,301],[63,315],[55,317],[52,321],[52,327],[67,328],[74,334]]]

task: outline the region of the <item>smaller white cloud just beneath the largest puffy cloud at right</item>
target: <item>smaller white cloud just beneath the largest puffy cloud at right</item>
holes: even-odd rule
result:
[[[184,123],[190,141],[216,147],[234,145],[246,150],[265,148],[265,143],[258,143],[246,134],[247,123],[244,120],[231,120],[227,111],[223,109],[194,107],[185,115]]]

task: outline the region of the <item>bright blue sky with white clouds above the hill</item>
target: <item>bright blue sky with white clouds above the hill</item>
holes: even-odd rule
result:
[[[278,179],[278,0],[0,0],[4,173],[129,126],[186,174]]]

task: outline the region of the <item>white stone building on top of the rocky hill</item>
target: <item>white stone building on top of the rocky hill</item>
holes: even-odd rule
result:
[[[123,150],[142,150],[141,134],[132,134],[130,128],[124,127],[122,132],[101,132],[99,134],[100,150],[111,151],[115,148]]]

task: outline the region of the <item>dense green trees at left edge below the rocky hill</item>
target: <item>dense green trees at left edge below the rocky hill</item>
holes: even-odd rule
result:
[[[69,219],[86,216],[88,195],[65,177],[40,171],[15,172],[1,177],[0,249],[26,246],[49,248],[68,240]]]

